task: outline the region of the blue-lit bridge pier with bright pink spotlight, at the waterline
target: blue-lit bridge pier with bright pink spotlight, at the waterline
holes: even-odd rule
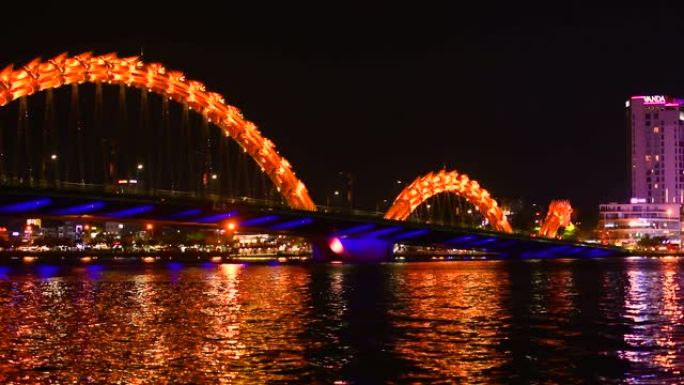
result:
[[[394,260],[394,242],[376,238],[332,237],[311,242],[313,259],[318,262],[389,262]]]

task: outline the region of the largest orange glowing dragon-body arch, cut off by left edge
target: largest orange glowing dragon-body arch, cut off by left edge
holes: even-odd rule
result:
[[[114,53],[84,53],[73,57],[61,54],[47,61],[35,59],[16,70],[10,65],[0,71],[0,106],[38,91],[83,82],[147,89],[187,104],[238,142],[271,178],[290,207],[316,210],[290,163],[254,123],[246,120],[236,107],[226,104],[221,95],[206,91],[204,84],[187,80],[182,72],[167,70],[159,63],[143,63],[138,57],[120,58]]]

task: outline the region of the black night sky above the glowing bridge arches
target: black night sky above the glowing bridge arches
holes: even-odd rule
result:
[[[339,171],[374,208],[446,165],[591,216],[628,197],[625,100],[684,96],[684,13],[662,1],[14,3],[1,65],[144,47],[241,108],[320,203]]]

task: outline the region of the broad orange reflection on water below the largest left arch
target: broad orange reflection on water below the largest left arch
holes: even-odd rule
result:
[[[0,382],[223,383],[291,378],[307,274],[240,265],[74,269],[0,286]],[[265,288],[268,288],[265,290]]]

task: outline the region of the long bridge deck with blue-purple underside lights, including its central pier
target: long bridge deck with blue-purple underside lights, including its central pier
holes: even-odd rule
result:
[[[394,258],[396,244],[486,252],[502,259],[602,258],[626,255],[623,249],[481,229],[385,220],[372,214],[293,210],[243,199],[149,197],[0,190],[0,216],[155,222],[161,225],[223,227],[240,233],[285,234],[306,238],[314,260],[382,262]]]

